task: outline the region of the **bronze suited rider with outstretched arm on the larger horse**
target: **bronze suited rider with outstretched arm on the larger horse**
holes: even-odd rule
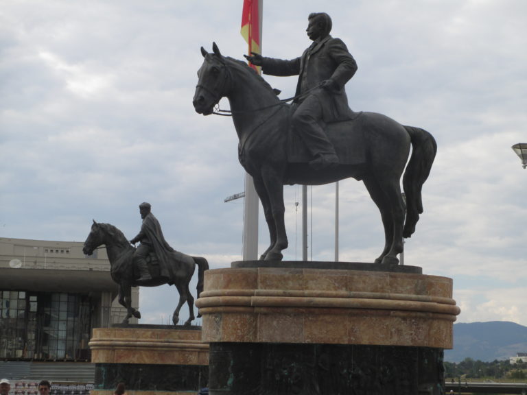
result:
[[[325,12],[309,14],[306,32],[313,43],[299,58],[281,60],[257,53],[245,56],[266,74],[298,75],[292,125],[312,154],[309,165],[314,169],[338,165],[335,147],[320,123],[353,117],[344,85],[357,71],[357,63],[342,40],[329,35],[331,26]]]

